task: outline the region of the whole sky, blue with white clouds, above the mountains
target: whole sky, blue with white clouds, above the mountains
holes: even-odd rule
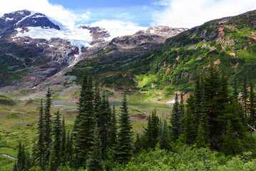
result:
[[[256,0],[8,0],[0,14],[28,9],[66,26],[192,28],[213,19],[256,9]]]

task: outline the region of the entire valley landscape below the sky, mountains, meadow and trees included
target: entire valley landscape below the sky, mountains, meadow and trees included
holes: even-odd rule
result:
[[[256,10],[129,29],[21,10],[0,36],[0,171],[256,169]]]

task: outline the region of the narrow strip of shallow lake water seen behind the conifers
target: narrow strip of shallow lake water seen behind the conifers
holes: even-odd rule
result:
[[[53,100],[52,104],[53,106],[59,106],[63,108],[78,108],[78,106],[76,106],[76,102],[72,102],[72,101]],[[68,105],[65,105],[65,104],[68,104]],[[110,102],[111,107],[113,107],[114,104],[115,106],[122,105],[121,102]],[[155,107],[156,108],[173,108],[172,104],[160,104],[160,103],[127,103],[127,105],[135,106],[139,108],[155,108]]]

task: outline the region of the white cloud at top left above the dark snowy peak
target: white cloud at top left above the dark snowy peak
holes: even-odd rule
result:
[[[89,12],[78,16],[61,5],[50,4],[48,0],[8,0],[1,4],[0,13],[6,14],[23,9],[46,14],[64,26],[74,26],[76,21],[87,20],[90,16]]]

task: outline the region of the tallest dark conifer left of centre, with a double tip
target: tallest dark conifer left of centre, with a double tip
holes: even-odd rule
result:
[[[86,73],[84,79],[87,79]],[[92,78],[88,77],[88,81],[83,81],[81,89],[81,97],[78,108],[78,118],[76,118],[75,154],[74,160],[76,167],[85,165],[88,150],[91,147],[94,123],[96,121],[95,110],[93,108],[93,90]]]

